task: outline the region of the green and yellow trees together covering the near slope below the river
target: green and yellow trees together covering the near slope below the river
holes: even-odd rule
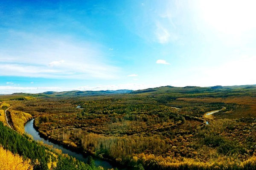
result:
[[[0,145],[2,146],[0,147],[0,167],[3,167],[0,170],[12,170],[12,168],[16,167],[20,168],[13,170],[100,170],[98,167],[90,166],[70,156],[62,155],[58,151],[29,139],[28,136],[22,136],[4,126],[2,122],[0,122]],[[4,169],[4,166],[12,165],[8,164],[7,161],[13,163],[13,167]],[[56,166],[49,164],[56,161]],[[25,169],[21,168],[22,166]]]

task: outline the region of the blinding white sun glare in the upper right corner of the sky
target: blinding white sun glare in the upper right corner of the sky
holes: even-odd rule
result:
[[[243,34],[256,27],[254,0],[200,0],[202,17],[211,26],[225,34]]]

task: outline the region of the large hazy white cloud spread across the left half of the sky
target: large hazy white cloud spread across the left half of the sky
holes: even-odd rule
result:
[[[102,45],[55,35],[49,39],[47,35],[39,37],[17,31],[6,31],[6,34],[11,34],[8,41],[15,44],[0,46],[0,59],[5,59],[0,63],[0,76],[63,79],[119,77],[120,68],[109,64],[108,57],[102,53],[105,48]]]

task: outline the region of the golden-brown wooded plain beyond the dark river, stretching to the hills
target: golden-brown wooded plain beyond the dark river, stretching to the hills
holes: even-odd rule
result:
[[[10,102],[14,110],[38,117],[35,125],[44,136],[121,164],[161,170],[255,169],[255,90],[188,90]]]

